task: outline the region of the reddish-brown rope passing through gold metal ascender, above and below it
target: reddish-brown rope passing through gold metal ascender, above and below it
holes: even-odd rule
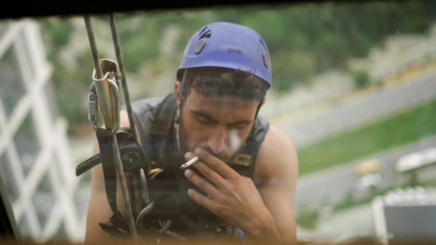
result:
[[[88,33],[89,45],[91,46],[91,54],[93,55],[94,67],[96,69],[96,76],[97,79],[102,79],[103,70],[101,68],[100,58],[97,51],[97,43],[91,25],[91,16],[90,14],[85,14],[84,18],[85,18],[86,31]],[[134,225],[133,212],[130,204],[129,193],[127,192],[127,184],[126,184],[126,179],[124,177],[123,165],[121,163],[120,150],[118,149],[117,137],[115,135],[112,136],[112,144],[113,144],[113,151],[116,156],[115,165],[117,168],[118,179],[120,180],[121,192],[123,193],[123,201],[128,215],[130,234],[133,240],[137,241],[138,237],[136,233],[136,227]]]

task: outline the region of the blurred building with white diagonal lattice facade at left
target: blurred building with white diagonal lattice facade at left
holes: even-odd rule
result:
[[[25,238],[81,241],[86,212],[52,72],[35,21],[0,22],[0,173],[16,223]]]

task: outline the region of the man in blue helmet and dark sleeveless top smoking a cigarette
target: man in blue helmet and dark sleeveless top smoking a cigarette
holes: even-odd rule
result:
[[[158,173],[148,181],[155,206],[145,220],[171,220],[170,230],[183,235],[216,237],[225,224],[242,230],[248,242],[296,243],[295,147],[258,115],[270,85],[268,48],[254,30],[216,22],[192,36],[174,93],[132,103],[137,140]],[[128,126],[122,110],[121,127]],[[194,156],[200,160],[180,169]],[[107,239],[98,224],[112,215],[102,166],[91,175],[85,243]],[[118,207],[126,217],[118,186]]]

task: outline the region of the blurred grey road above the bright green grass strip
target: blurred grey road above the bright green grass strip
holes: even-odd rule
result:
[[[359,95],[349,102],[315,115],[280,122],[277,126],[288,133],[299,148],[330,134],[395,113],[436,96],[436,71],[427,72],[415,79],[416,81],[402,82]]]

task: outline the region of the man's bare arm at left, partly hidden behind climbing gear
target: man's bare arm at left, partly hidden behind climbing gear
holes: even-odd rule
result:
[[[126,111],[120,111],[120,127],[128,127],[129,118]],[[102,126],[104,128],[104,126]],[[139,135],[136,129],[136,135]],[[141,139],[136,137],[141,144]],[[93,155],[100,152],[98,141],[94,142]],[[123,203],[120,182],[117,181],[117,206],[123,217],[126,217],[126,210]],[[96,244],[108,242],[107,234],[102,231],[99,223],[106,223],[113,215],[106,197],[104,185],[103,167],[101,164],[91,168],[91,198],[89,201],[88,215],[86,220],[85,244]]]

